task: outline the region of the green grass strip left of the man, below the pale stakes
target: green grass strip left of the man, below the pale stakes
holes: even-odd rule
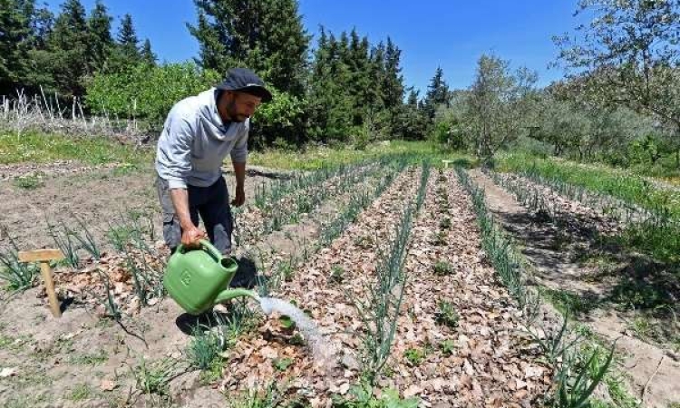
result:
[[[78,160],[85,164],[151,163],[153,150],[136,150],[132,145],[104,137],[75,138],[59,134],[26,132],[0,133],[0,164],[24,162],[49,163],[55,160]]]

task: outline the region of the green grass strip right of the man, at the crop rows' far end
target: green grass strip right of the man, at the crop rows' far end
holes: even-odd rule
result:
[[[252,151],[248,157],[248,163],[283,170],[319,170],[324,166],[351,164],[361,160],[379,159],[404,153],[413,154],[414,157],[429,156],[433,160],[432,163],[438,166],[442,165],[442,159],[455,160],[464,167],[472,167],[477,163],[468,154],[445,152],[439,145],[428,141],[375,142],[363,151],[351,147],[342,149],[310,147],[302,151]]]

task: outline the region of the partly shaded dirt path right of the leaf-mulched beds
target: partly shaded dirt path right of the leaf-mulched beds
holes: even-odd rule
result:
[[[573,259],[575,248],[588,248],[587,237],[560,236],[559,229],[532,219],[514,196],[496,186],[480,170],[472,170],[470,174],[485,189],[489,209],[523,246],[522,253],[541,285],[566,289],[583,298],[597,298],[607,293],[610,289],[607,283],[586,281],[588,271]],[[567,242],[562,242],[565,239]],[[614,310],[593,310],[582,321],[610,341],[618,338],[617,347],[624,355],[624,362],[618,368],[628,374],[630,389],[637,398],[642,397],[644,406],[666,408],[671,403],[680,403],[680,362],[673,353],[627,335],[627,316]]]

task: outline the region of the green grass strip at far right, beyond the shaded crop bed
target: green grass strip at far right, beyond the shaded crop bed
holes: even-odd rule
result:
[[[500,156],[498,170],[533,172],[543,178],[607,194],[644,209],[656,211],[663,207],[672,218],[680,219],[680,192],[657,187],[628,171],[554,158],[541,159],[526,154]]]

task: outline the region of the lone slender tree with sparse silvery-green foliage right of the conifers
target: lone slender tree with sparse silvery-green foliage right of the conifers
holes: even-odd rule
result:
[[[526,131],[530,122],[537,75],[524,68],[512,74],[509,65],[495,55],[481,55],[468,94],[467,120],[477,154],[487,162],[500,147]]]

